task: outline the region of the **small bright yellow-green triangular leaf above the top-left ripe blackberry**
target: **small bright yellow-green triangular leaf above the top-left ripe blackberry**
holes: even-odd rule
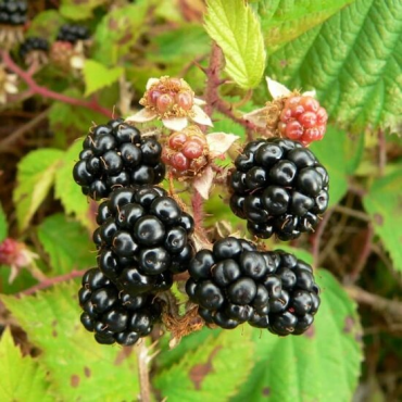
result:
[[[118,80],[124,73],[122,67],[106,68],[104,65],[93,61],[86,60],[84,65],[85,96],[109,87]]]

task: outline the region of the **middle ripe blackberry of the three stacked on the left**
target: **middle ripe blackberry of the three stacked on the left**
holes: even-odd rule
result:
[[[192,217],[156,186],[115,189],[99,205],[98,265],[129,294],[167,290],[193,256]]]

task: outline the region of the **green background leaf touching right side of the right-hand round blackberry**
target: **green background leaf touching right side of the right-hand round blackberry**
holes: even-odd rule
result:
[[[328,126],[324,139],[313,142],[311,150],[328,171],[329,205],[336,205],[347,193],[348,175],[362,156],[363,135],[350,137],[344,130]]]

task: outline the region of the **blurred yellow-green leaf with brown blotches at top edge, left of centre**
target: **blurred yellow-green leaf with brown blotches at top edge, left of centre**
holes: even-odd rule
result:
[[[110,11],[98,24],[93,35],[93,59],[103,65],[115,66],[120,56],[127,54],[146,28],[146,17],[152,1],[138,0],[135,4]]]

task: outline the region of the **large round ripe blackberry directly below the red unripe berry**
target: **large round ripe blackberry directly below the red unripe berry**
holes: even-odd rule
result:
[[[230,208],[252,235],[291,240],[313,231],[328,206],[328,174],[312,151],[288,139],[259,139],[235,165]]]

